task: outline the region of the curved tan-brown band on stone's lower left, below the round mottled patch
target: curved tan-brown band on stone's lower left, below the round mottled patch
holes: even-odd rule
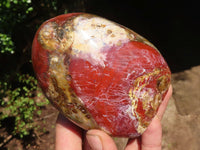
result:
[[[77,125],[84,129],[97,128],[91,114],[70,87],[71,79],[67,71],[68,66],[64,64],[65,56],[54,54],[50,57],[49,89],[46,95],[64,116]]]

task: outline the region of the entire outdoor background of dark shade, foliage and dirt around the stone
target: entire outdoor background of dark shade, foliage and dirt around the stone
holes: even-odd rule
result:
[[[163,149],[199,150],[200,13],[192,0],[0,0],[0,149],[54,148],[58,112],[37,85],[31,46],[45,20],[70,12],[115,21],[160,50],[174,86],[162,122]],[[123,147],[126,139],[116,141]]]

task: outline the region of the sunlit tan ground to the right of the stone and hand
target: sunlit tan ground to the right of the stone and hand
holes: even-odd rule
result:
[[[200,149],[200,66],[172,75],[173,96],[162,120],[163,150]]]

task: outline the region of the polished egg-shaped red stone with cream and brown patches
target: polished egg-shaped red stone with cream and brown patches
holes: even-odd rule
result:
[[[113,136],[141,135],[171,78],[164,58],[145,38],[85,13],[44,22],[33,41],[32,62],[44,94],[64,116]]]

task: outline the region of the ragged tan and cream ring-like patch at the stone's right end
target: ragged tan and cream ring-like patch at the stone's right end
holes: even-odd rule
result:
[[[138,118],[138,133],[142,134],[150,123],[149,120],[142,119],[140,114],[136,111],[139,99],[142,100],[142,107],[145,111],[145,116],[152,119],[162,102],[162,94],[165,93],[169,87],[169,83],[166,82],[169,77],[163,75],[158,79],[159,84],[157,86],[158,91],[156,94],[151,94],[153,91],[151,91],[150,88],[143,90],[148,84],[150,84],[149,78],[158,76],[160,72],[160,69],[155,69],[151,73],[136,78],[133,88],[129,90],[129,97],[132,100],[132,114]]]

